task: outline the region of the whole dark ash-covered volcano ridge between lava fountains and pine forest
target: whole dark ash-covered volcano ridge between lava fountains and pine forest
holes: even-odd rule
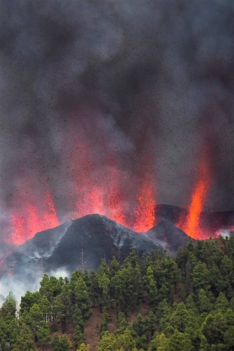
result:
[[[103,258],[107,264],[113,256],[123,262],[133,247],[139,257],[152,249],[162,254],[167,250],[174,256],[189,241],[189,236],[176,226],[176,219],[186,216],[186,210],[160,205],[157,211],[158,224],[145,232],[136,232],[100,214],[88,214],[36,233],[24,244],[2,243],[1,291],[7,294],[17,286],[22,294],[38,287],[44,273],[59,277],[69,276],[76,268],[96,270]],[[201,223],[209,226],[213,234],[220,229],[226,233],[233,218],[233,211],[202,213]]]

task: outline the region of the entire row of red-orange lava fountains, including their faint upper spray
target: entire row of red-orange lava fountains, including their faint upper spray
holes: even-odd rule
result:
[[[30,181],[26,183],[26,180],[22,180],[19,183],[13,196],[5,235],[7,243],[22,244],[37,232],[94,213],[142,233],[151,230],[160,220],[169,219],[157,213],[159,206],[156,203],[156,180],[151,160],[147,159],[146,162],[143,159],[140,171],[134,174],[119,170],[120,160],[115,158],[113,152],[107,152],[105,166],[102,166],[102,149],[97,152],[95,145],[87,145],[86,137],[84,134],[76,149],[72,144],[69,146],[71,167],[66,170],[66,178],[71,187],[66,191],[67,217],[64,219],[61,209],[58,211],[56,208],[58,202],[51,195],[49,182],[45,179],[41,181],[39,173],[35,172],[33,176],[31,174]],[[205,221],[201,220],[211,180],[207,158],[205,153],[201,154],[187,214],[179,211],[176,219],[172,220],[194,239],[215,237],[217,230],[222,228],[222,224],[215,224],[213,228],[206,226]],[[141,159],[139,152],[139,164]]]

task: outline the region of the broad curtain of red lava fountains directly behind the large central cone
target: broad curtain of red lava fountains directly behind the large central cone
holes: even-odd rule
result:
[[[71,155],[71,162],[73,157]],[[82,143],[79,146],[78,159],[73,164],[76,165],[74,167],[76,200],[72,211],[73,219],[99,213],[138,232],[147,231],[155,225],[154,194],[147,182],[142,182],[144,185],[140,187],[136,203],[132,207],[132,213],[134,213],[132,216],[131,211],[125,213],[123,176],[114,166],[108,167],[105,171],[95,169],[95,160]],[[130,185],[129,183],[127,186]]]

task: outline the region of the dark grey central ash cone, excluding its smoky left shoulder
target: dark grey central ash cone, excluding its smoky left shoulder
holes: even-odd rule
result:
[[[149,253],[152,249],[162,250],[160,245],[142,234],[105,216],[90,214],[73,221],[52,256],[46,260],[46,265],[53,269],[63,266],[71,272],[82,265],[83,250],[86,267],[97,269],[103,258],[106,258],[107,263],[113,256],[123,261],[132,247],[139,255]]]

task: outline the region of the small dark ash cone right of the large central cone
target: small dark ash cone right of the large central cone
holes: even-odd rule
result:
[[[186,245],[189,241],[189,236],[169,220],[161,221],[146,232],[145,236],[161,245],[171,255],[174,255],[180,246]]]

